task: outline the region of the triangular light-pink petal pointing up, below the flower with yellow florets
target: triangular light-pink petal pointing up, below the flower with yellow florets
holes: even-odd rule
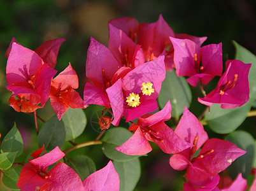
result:
[[[125,153],[125,155],[146,155],[146,153],[152,151],[152,147],[140,128],[134,132],[131,138],[115,149]]]

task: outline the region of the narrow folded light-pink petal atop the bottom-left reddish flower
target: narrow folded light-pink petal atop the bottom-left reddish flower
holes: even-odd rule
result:
[[[29,163],[34,167],[43,170],[45,167],[50,166],[51,164],[62,159],[65,154],[59,149],[59,146],[56,146],[51,152],[46,153],[45,155],[38,157],[36,159],[29,160]]]

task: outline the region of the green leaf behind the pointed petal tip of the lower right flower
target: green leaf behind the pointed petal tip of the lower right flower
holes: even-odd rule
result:
[[[226,138],[227,141],[231,141],[239,148],[246,151],[245,155],[242,155],[227,168],[227,172],[231,178],[236,178],[238,173],[242,173],[244,178],[250,174],[253,166],[253,157],[255,156],[254,139],[251,134],[246,131],[234,131]]]

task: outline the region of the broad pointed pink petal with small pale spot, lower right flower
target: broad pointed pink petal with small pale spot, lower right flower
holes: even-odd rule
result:
[[[224,171],[234,160],[246,153],[233,143],[216,138],[206,141],[199,155],[210,150],[213,150],[213,152],[205,155],[203,159],[196,160],[193,164],[212,175]]]

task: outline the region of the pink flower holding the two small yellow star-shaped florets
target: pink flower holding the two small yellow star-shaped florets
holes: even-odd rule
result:
[[[164,56],[129,71],[106,89],[113,110],[113,125],[124,115],[126,122],[157,110],[157,99],[166,77]]]

